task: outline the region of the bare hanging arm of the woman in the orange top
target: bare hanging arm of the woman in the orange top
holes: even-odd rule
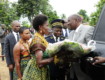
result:
[[[20,48],[19,44],[17,43],[13,49],[14,53],[14,61],[15,61],[15,66],[16,66],[16,72],[18,74],[18,77],[21,79],[22,74],[21,74],[21,67],[20,67]]]

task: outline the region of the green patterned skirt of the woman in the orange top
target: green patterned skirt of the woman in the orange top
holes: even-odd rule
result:
[[[28,64],[30,59],[27,59],[27,60],[21,60],[20,62],[20,67],[21,67],[21,74],[23,75],[23,72]],[[18,79],[18,75],[16,73],[16,68],[14,69],[14,72],[13,72],[13,80],[17,80]]]

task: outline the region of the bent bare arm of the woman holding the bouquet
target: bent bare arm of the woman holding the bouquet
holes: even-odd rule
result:
[[[36,62],[38,64],[39,67],[42,67],[43,65],[46,65],[48,63],[50,63],[51,61],[53,61],[53,58],[48,58],[48,59],[43,59],[43,52],[41,50],[37,50],[35,52],[36,55]]]

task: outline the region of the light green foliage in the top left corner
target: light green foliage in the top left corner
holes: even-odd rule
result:
[[[8,1],[0,3],[0,23],[9,26],[13,20],[18,20],[16,14],[16,4],[10,4]]]

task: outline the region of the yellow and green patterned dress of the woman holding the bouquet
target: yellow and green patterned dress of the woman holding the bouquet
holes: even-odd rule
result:
[[[30,53],[32,58],[24,71],[22,80],[49,80],[48,65],[44,65],[43,67],[39,68],[36,63],[35,56],[36,50],[42,50],[43,59],[48,58],[48,54],[45,52],[47,46],[48,42],[45,40],[45,38],[39,33],[35,33],[34,39],[30,45]]]

